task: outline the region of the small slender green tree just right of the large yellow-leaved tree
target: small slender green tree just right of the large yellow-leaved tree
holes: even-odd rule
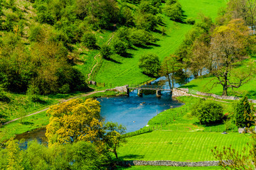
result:
[[[107,135],[105,135],[107,146],[118,159],[117,148],[120,146],[122,142],[126,142],[125,138],[122,137],[122,135],[125,133],[126,128],[122,125],[118,125],[117,123],[112,122],[108,122],[105,125],[105,128],[107,130]]]

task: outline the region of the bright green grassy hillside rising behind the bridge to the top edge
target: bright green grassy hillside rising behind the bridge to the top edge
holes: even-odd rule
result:
[[[226,0],[197,0],[196,2],[181,0],[180,2],[183,6],[183,11],[185,11],[184,15],[186,15],[186,17],[195,18],[196,21],[198,21],[200,19],[198,18],[198,13],[203,13],[206,16],[215,18],[218,8],[225,6]],[[164,15],[161,16],[164,18],[164,23],[166,24],[166,35],[154,33],[154,36],[158,38],[159,41],[145,48],[134,47],[134,49],[128,51],[128,57],[113,55],[112,59],[115,62],[103,60],[95,81],[120,86],[124,84],[139,84],[149,80],[150,78],[142,74],[138,67],[139,57],[147,52],[154,52],[159,55],[160,60],[163,60],[164,57],[175,52],[177,47],[181,44],[184,35],[192,27],[187,24],[170,21],[169,18]],[[161,28],[159,28],[159,30],[160,29]]]

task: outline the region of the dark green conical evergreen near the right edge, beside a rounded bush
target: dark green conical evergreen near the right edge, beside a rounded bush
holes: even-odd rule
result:
[[[238,128],[250,128],[250,126],[255,122],[253,119],[254,108],[250,105],[248,98],[246,96],[244,96],[235,103],[234,113],[235,125],[237,125]]]

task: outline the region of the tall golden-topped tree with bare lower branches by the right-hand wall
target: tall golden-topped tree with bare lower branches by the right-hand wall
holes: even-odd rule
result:
[[[228,88],[238,88],[250,80],[253,67],[236,69],[238,63],[247,57],[246,46],[249,30],[240,19],[227,26],[215,29],[211,40],[210,53],[213,55],[211,73],[223,86],[223,96],[228,96]]]

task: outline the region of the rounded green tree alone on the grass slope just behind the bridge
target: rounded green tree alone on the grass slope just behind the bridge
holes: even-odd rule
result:
[[[154,53],[148,53],[139,58],[139,68],[150,77],[158,77],[160,67],[159,57]]]

